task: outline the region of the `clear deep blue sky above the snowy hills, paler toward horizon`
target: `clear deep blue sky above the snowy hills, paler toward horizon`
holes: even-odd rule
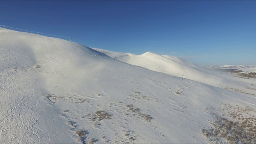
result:
[[[256,1],[0,1],[0,25],[198,65],[256,65]]]

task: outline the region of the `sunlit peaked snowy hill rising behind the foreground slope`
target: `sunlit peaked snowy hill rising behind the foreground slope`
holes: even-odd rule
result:
[[[122,62],[126,62],[135,66],[141,66],[156,72],[170,74],[172,76],[182,77],[184,75],[184,78],[196,80],[198,82],[203,82],[214,86],[216,86],[220,80],[222,80],[221,77],[214,75],[210,70],[174,56],[161,56],[152,52],[135,55],[111,52],[98,48],[94,49],[112,58],[116,57],[117,60]]]

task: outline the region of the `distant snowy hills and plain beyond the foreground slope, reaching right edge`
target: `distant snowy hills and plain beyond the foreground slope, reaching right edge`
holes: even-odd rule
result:
[[[135,55],[128,53],[111,52],[108,50],[102,50],[98,48],[93,49],[102,52],[112,58],[116,57],[116,60],[120,60],[122,62],[132,64],[134,66],[147,68],[149,70],[153,70],[156,72],[161,72],[164,74],[169,74],[181,78],[182,76],[184,76],[184,78],[202,82],[212,86],[217,86],[220,88],[232,86],[232,88],[238,88],[242,91],[249,91],[255,93],[254,90],[248,90],[247,88],[241,87],[241,82],[244,83],[246,86],[252,86],[248,83],[248,80],[244,80],[242,78],[234,78],[234,76],[236,75],[230,75],[223,72],[216,72],[208,68],[203,68],[191,62],[187,62],[185,60],[177,58],[175,56],[161,56],[158,54],[154,54],[152,52],[146,52],[141,55]],[[256,66],[251,66],[251,68],[244,68],[242,70],[255,70],[255,68]]]

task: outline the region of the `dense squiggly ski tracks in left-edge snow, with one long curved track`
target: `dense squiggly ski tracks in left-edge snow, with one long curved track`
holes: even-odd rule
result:
[[[18,55],[23,56],[0,48],[0,96],[2,98],[0,100],[0,143],[40,143],[45,136],[44,131],[50,143],[50,136],[44,126],[40,124],[45,130],[41,130],[37,126],[40,123],[38,121],[40,115],[34,115],[36,107],[40,103],[37,101],[40,96],[34,100],[32,99],[35,96],[33,91],[24,88],[24,86],[32,85],[37,79],[31,80],[28,76],[22,75],[20,71],[15,70]],[[60,72],[62,71],[60,70]],[[52,90],[58,87],[60,80]]]

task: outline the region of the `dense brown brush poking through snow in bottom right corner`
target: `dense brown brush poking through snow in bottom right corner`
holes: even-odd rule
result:
[[[256,111],[249,107],[224,104],[222,118],[213,114],[216,121],[211,128],[202,129],[202,135],[213,143],[256,143]]]

